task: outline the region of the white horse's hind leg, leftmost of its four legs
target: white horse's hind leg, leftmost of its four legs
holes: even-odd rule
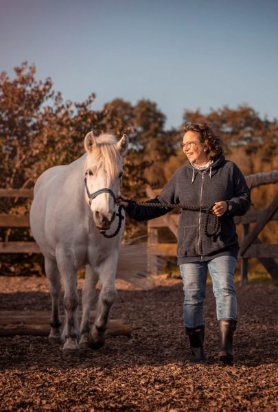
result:
[[[59,314],[59,301],[61,292],[60,273],[58,271],[56,260],[45,258],[45,273],[49,280],[49,293],[51,296],[52,308],[50,319],[50,334],[49,341],[54,343],[61,342],[61,330],[60,330],[60,314]]]

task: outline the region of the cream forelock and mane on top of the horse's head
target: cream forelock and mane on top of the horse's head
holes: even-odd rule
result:
[[[89,155],[94,163],[104,162],[111,177],[117,176],[121,168],[121,155],[116,148],[117,139],[112,133],[102,133],[96,137],[97,148]]]

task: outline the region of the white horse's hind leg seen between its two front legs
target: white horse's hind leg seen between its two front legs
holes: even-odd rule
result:
[[[89,332],[90,332],[90,312],[95,299],[95,286],[98,281],[98,275],[93,271],[89,264],[86,265],[86,275],[84,288],[82,290],[82,321],[80,325],[81,338],[80,348],[86,349],[89,347]]]

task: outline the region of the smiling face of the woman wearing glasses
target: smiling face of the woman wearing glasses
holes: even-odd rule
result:
[[[206,145],[200,141],[198,132],[189,130],[183,136],[183,152],[187,155],[187,159],[196,165],[205,165],[208,161],[205,153]]]

